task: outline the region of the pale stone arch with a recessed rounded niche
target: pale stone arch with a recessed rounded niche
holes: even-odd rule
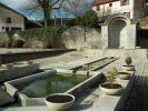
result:
[[[130,31],[131,30],[131,31]],[[136,23],[122,14],[114,14],[101,26],[102,47],[135,48]]]

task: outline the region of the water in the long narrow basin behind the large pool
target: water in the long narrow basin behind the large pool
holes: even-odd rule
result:
[[[89,71],[93,68],[97,68],[97,67],[100,67],[102,64],[109,63],[112,60],[114,59],[111,59],[111,58],[102,59],[102,60],[96,61],[93,63],[87,64],[86,67],[78,68],[77,70]]]

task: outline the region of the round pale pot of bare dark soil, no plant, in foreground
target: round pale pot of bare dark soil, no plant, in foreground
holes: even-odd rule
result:
[[[45,99],[50,111],[63,111],[72,107],[75,97],[67,93],[49,94]]]

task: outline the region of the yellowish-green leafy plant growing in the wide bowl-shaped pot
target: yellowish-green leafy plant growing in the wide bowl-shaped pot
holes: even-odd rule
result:
[[[107,71],[107,81],[112,84],[117,75],[118,75],[118,70],[114,67],[112,69]]]

